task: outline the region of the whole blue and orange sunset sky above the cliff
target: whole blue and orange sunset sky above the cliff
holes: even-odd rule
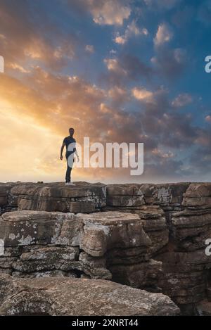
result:
[[[210,0],[0,0],[0,182],[63,181],[69,127],[144,144],[73,181],[210,182],[210,29]]]

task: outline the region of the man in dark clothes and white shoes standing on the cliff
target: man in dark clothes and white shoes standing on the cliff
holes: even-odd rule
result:
[[[70,128],[69,129],[69,137],[65,137],[65,139],[63,140],[63,144],[60,148],[60,160],[63,160],[63,149],[66,146],[66,160],[67,160],[67,171],[66,171],[66,175],[65,175],[65,185],[66,186],[75,186],[75,184],[73,184],[71,182],[71,172],[72,172],[72,165],[74,162],[74,156],[77,156],[77,161],[79,162],[79,156],[76,150],[76,141],[73,137],[75,133],[75,129],[74,128]]]

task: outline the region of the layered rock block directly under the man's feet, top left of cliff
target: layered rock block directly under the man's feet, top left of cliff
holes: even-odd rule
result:
[[[0,184],[1,213],[18,209],[90,213],[105,205],[104,184],[78,182],[74,189],[61,182]]]

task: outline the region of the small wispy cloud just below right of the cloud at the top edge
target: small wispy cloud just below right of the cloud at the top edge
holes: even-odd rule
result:
[[[148,35],[148,30],[146,28],[139,28],[135,21],[132,20],[132,23],[127,25],[127,29],[125,30],[123,35],[120,35],[119,32],[117,32],[114,42],[116,44],[126,44],[130,37],[133,35],[140,36],[140,35]]]

